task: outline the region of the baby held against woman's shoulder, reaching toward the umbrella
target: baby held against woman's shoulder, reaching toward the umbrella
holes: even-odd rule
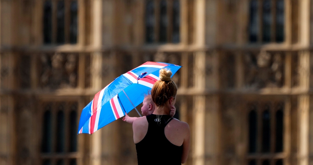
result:
[[[143,116],[148,116],[154,112],[155,104],[152,101],[151,95],[146,95],[142,102],[141,113]],[[171,107],[170,116],[173,117],[175,115],[176,108],[175,106]],[[133,123],[135,119],[138,117],[129,117],[127,113],[125,113],[125,117],[122,119],[128,123]]]

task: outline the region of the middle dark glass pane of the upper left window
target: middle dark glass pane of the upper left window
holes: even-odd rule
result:
[[[57,44],[64,44],[64,0],[59,0],[57,4]]]

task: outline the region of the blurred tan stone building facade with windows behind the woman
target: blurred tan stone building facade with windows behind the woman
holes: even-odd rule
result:
[[[312,5],[0,0],[0,164],[137,164],[131,124],[77,129],[95,93],[146,61],[183,66],[187,165],[313,164]]]

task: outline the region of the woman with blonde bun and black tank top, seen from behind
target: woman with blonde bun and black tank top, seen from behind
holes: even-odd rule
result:
[[[169,116],[176,102],[177,86],[171,79],[172,72],[160,70],[160,80],[151,90],[156,105],[148,116],[133,123],[138,165],[185,163],[189,152],[189,125]]]

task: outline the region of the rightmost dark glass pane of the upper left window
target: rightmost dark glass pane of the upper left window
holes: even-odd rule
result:
[[[77,28],[77,10],[78,10],[78,4],[77,1],[71,2],[70,12],[70,29],[69,29],[69,42],[71,44],[77,43],[77,34],[78,34],[78,28]]]

